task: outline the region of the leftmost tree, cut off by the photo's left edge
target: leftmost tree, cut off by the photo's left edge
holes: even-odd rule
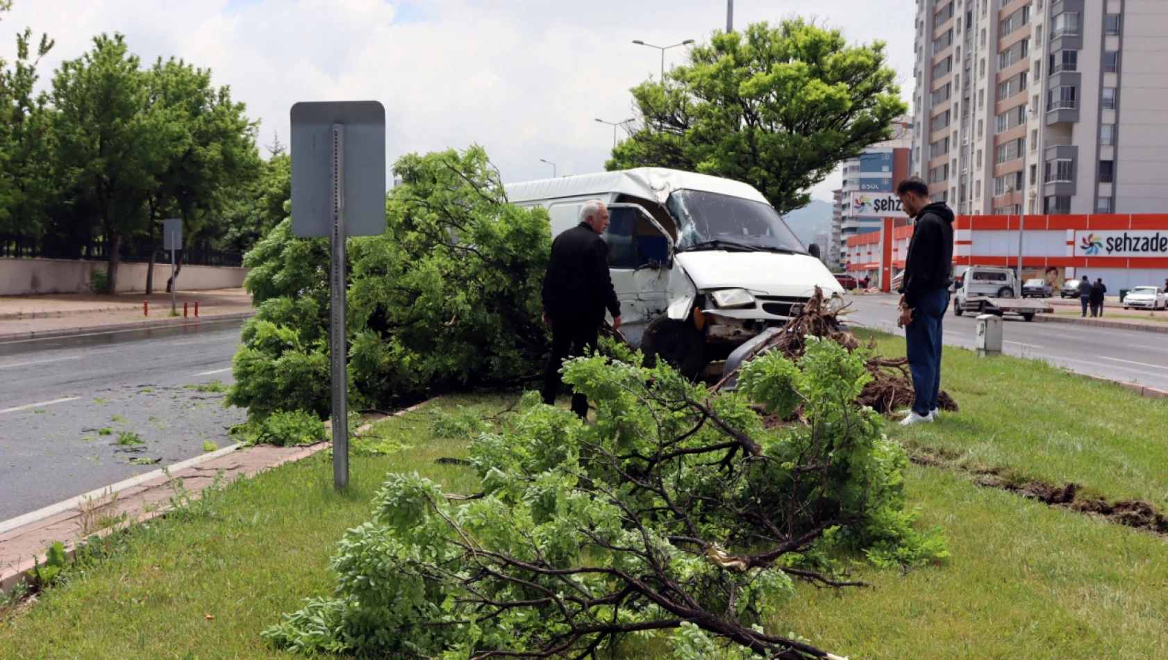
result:
[[[0,2],[0,12],[11,4]],[[53,196],[47,95],[35,92],[36,67],[53,48],[42,35],[35,58],[33,30],[16,35],[13,67],[0,60],[0,231],[39,236]]]

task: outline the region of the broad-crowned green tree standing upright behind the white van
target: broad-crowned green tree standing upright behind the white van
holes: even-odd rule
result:
[[[849,46],[804,19],[716,33],[689,63],[632,89],[638,116],[609,169],[672,167],[745,181],[779,213],[908,111],[884,43]]]

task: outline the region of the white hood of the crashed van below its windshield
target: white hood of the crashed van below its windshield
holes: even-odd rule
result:
[[[811,255],[702,250],[677,252],[674,258],[698,291],[741,287],[758,296],[808,298],[818,285],[828,296],[843,293],[823,262]]]

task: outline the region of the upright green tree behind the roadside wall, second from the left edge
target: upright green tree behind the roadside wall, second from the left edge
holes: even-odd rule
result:
[[[164,155],[147,100],[146,76],[120,34],[93,37],[93,49],[62,63],[53,79],[58,166],[79,203],[97,210],[111,292],[123,239],[146,228],[142,202]]]

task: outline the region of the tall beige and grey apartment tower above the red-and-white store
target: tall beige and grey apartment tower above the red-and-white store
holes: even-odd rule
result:
[[[910,169],[959,214],[1168,202],[1168,0],[917,0]]]

